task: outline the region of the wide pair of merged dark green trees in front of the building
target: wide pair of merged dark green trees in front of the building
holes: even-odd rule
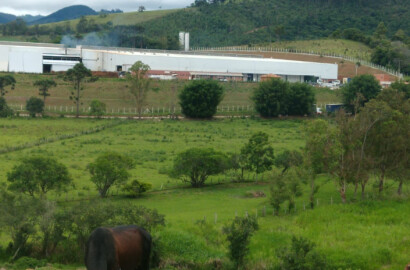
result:
[[[310,115],[316,110],[313,86],[288,83],[279,78],[261,82],[252,100],[256,111],[263,117]]]

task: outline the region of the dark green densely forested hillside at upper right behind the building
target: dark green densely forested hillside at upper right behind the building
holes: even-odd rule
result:
[[[193,46],[224,46],[317,39],[347,28],[370,34],[380,22],[388,36],[410,29],[410,0],[197,0],[193,5],[144,23],[144,32],[184,30]]]

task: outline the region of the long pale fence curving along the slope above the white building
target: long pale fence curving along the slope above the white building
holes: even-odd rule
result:
[[[380,66],[374,64],[372,62],[347,56],[341,55],[336,53],[322,53],[322,52],[315,52],[315,51],[304,51],[298,49],[287,49],[287,48],[274,48],[274,47],[193,47],[191,48],[192,51],[211,51],[211,52],[276,52],[276,53],[295,53],[295,54],[306,54],[306,55],[314,55],[314,56],[325,56],[325,57],[332,57],[347,60],[353,63],[360,63],[363,66],[368,66],[371,68],[382,70],[388,74],[393,76],[403,78],[403,74],[398,72],[397,70],[386,68],[384,66]]]

